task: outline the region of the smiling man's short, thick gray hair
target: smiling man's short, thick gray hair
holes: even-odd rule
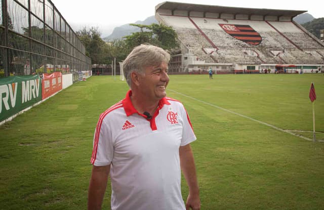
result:
[[[124,76],[131,87],[131,73],[144,72],[149,66],[158,66],[162,62],[169,63],[170,54],[163,48],[150,44],[141,44],[134,47],[123,63]]]

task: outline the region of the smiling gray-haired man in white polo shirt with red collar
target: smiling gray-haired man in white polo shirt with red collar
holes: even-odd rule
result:
[[[108,175],[112,210],[200,209],[190,143],[196,139],[183,104],[166,97],[170,55],[142,44],[124,61],[130,90],[99,117],[88,209],[101,209]],[[189,187],[181,195],[181,171]]]

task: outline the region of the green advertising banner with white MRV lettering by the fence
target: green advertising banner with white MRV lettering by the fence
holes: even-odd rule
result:
[[[39,75],[0,78],[0,122],[41,100]]]

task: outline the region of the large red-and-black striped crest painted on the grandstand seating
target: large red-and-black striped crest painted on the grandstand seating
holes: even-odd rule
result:
[[[258,45],[262,37],[250,25],[218,24],[226,33],[248,44]]]

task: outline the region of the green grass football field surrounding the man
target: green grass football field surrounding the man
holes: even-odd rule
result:
[[[170,78],[168,96],[184,103],[197,136],[201,209],[324,209],[323,74]],[[99,114],[127,90],[93,76],[1,126],[0,209],[86,209]],[[109,201],[110,186],[103,209]]]

